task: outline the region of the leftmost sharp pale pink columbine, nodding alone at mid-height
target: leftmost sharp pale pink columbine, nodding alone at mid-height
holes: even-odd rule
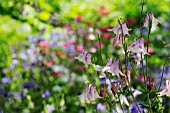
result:
[[[85,66],[87,67],[88,64],[92,64],[91,56],[92,56],[91,52],[83,51],[78,57],[75,57],[75,59],[82,61],[85,64]]]

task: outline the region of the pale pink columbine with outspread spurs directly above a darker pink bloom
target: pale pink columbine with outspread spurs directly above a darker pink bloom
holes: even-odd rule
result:
[[[123,35],[124,35],[124,36],[125,36],[125,35],[130,36],[129,31],[130,31],[131,29],[128,29],[128,28],[127,28],[126,22],[124,22],[124,23],[122,24],[122,29],[121,29],[120,24],[116,25],[116,26],[115,26],[114,28],[112,28],[112,29],[109,29],[109,31],[113,31],[116,35],[120,35],[120,34],[122,33],[122,30],[123,30]]]

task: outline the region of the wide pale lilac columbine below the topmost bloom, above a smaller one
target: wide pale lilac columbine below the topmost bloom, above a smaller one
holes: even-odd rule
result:
[[[134,42],[128,47],[128,51],[131,51],[133,53],[142,53],[147,54],[145,48],[144,48],[144,39],[134,39]]]

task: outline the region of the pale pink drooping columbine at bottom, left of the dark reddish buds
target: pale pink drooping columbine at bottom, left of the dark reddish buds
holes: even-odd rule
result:
[[[102,98],[99,96],[96,86],[93,84],[87,84],[86,89],[83,91],[81,95],[79,95],[80,98],[87,98],[89,101],[94,100],[96,98]]]

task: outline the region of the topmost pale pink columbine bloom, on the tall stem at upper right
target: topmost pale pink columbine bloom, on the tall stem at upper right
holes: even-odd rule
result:
[[[152,20],[152,22],[153,22],[154,24],[156,24],[156,25],[157,25],[158,23],[162,24],[158,19],[156,19],[156,18],[154,17],[153,13],[146,13],[146,17],[145,17],[145,21],[144,21],[144,27],[148,27],[148,26],[149,26],[150,20]]]

